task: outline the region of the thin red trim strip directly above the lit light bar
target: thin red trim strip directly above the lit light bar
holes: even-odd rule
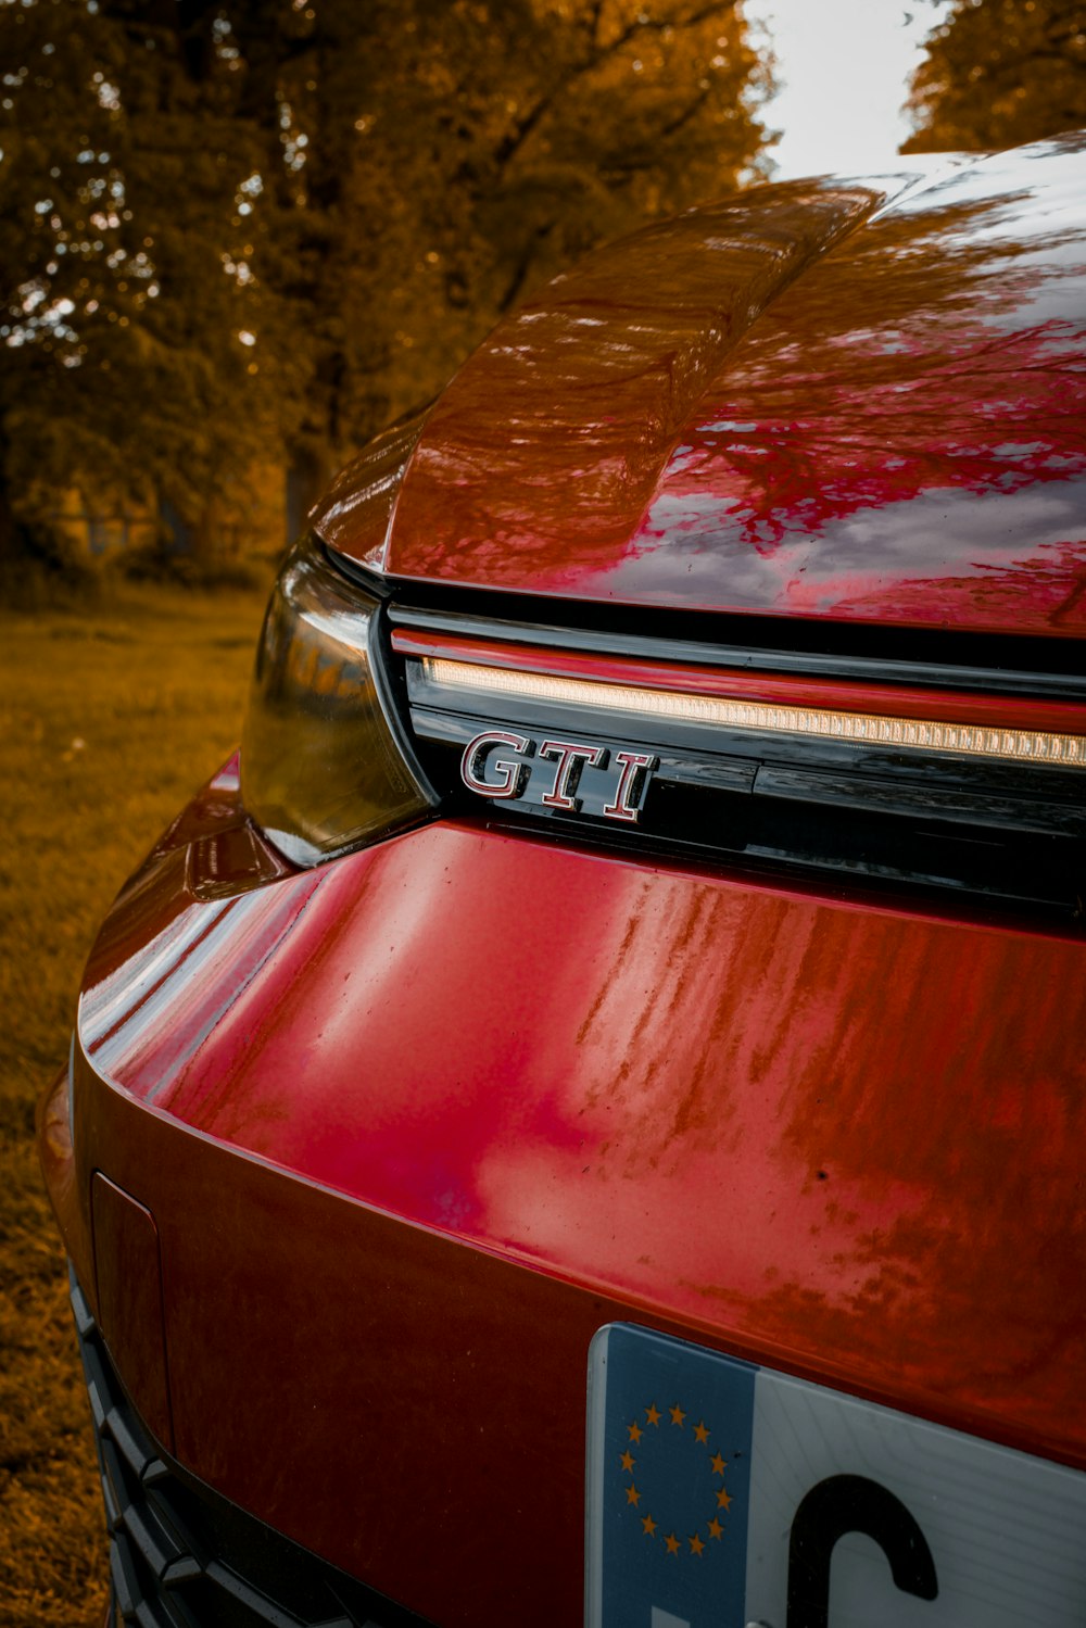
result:
[[[970,695],[962,690],[915,689],[907,684],[855,684],[811,677],[775,677],[738,667],[707,667],[677,661],[633,661],[625,656],[581,654],[515,645],[503,640],[461,638],[392,632],[401,656],[444,656],[479,666],[515,667],[521,672],[628,684],[682,695],[720,695],[775,702],[783,707],[824,707],[837,711],[874,713],[881,718],[926,718],[979,723],[1006,729],[1040,729],[1086,734],[1086,707],[1078,702],[1036,702],[1019,695]]]

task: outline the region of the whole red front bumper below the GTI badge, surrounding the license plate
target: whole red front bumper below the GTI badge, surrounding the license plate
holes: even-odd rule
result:
[[[228,773],[107,918],[39,1144],[186,1473],[422,1618],[570,1623],[615,1320],[1086,1464],[1081,974],[472,822],[283,874]]]

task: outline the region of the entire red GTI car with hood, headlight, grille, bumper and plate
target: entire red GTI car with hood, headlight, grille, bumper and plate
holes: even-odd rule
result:
[[[287,562],[41,1112],[111,1621],[1083,1623],[1086,138],[909,164]]]

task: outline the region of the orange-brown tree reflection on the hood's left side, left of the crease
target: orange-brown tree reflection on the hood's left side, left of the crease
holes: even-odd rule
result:
[[[397,511],[412,570],[611,563],[751,317],[871,205],[863,186],[759,189],[611,244],[526,304],[428,422]]]

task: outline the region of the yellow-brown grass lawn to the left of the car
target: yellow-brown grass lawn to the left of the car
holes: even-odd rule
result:
[[[106,1540],[33,1143],[109,900],[238,741],[265,591],[0,610],[0,1628],[98,1628]]]

